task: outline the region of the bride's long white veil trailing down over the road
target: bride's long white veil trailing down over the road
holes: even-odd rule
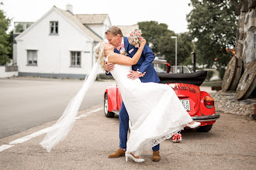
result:
[[[47,132],[47,135],[45,138],[43,138],[43,141],[40,142],[40,145],[48,152],[50,152],[51,149],[61,140],[66,138],[69,131],[71,131],[73,128],[75,117],[78,115],[78,109],[81,105],[81,102],[85,97],[85,93],[95,82],[98,70],[99,62],[94,64],[91,72],[88,74],[88,76],[85,77],[85,81],[81,89],[78,91],[76,96],[71,99],[69,104],[67,104],[67,107],[64,110],[62,116],[59,118],[56,124],[50,127],[50,131]]]

